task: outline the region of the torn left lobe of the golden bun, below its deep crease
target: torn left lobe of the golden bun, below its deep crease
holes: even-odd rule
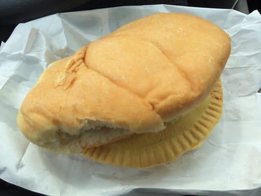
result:
[[[161,130],[160,116],[141,98],[87,68],[86,49],[52,63],[25,97],[17,116],[24,135],[71,153],[126,138],[130,130]]]

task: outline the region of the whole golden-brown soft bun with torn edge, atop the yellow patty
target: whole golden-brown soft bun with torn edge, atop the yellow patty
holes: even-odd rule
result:
[[[58,152],[160,131],[209,94],[229,54],[230,37],[218,26],[151,15],[52,63],[17,122],[30,141]]]

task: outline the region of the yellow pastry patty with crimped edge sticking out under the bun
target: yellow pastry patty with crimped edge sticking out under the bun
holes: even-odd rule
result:
[[[210,95],[194,110],[158,133],[135,134],[127,139],[89,148],[86,157],[100,163],[146,168],[165,164],[200,147],[222,114],[223,93],[219,79]]]

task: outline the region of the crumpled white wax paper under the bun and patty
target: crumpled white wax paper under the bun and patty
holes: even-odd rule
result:
[[[202,147],[163,166],[131,169],[99,164],[83,155],[53,154],[24,138],[16,115],[49,63],[72,55],[121,25],[157,12],[201,16],[232,37],[231,56],[222,73],[224,113]],[[0,46],[0,178],[61,196],[250,193],[261,186],[260,87],[258,11],[245,15],[225,9],[126,6],[55,14],[20,24]],[[136,188],[160,190],[133,190]]]

